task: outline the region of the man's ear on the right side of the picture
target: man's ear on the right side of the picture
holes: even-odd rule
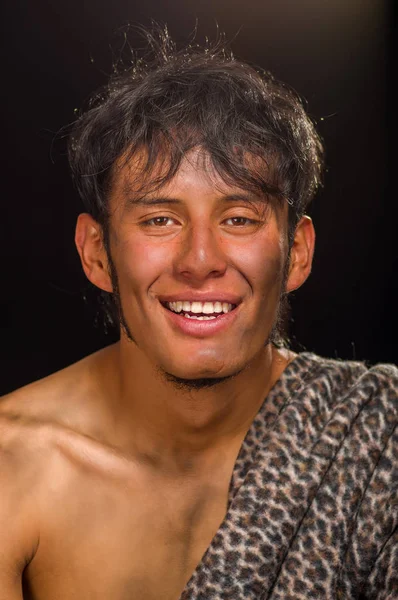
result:
[[[297,290],[311,273],[315,248],[315,229],[310,217],[300,219],[290,251],[289,275],[286,291]]]

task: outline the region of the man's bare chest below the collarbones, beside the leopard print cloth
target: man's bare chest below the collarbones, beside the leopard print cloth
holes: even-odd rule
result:
[[[24,599],[178,600],[225,517],[229,479],[86,475],[50,491]]]

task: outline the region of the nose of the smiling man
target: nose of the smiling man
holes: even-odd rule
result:
[[[190,227],[176,256],[176,275],[191,283],[201,283],[207,278],[221,277],[226,268],[226,256],[217,233],[208,225]]]

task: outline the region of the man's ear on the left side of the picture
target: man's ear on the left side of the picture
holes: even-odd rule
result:
[[[87,213],[77,219],[75,244],[87,279],[101,290],[112,292],[102,227]]]

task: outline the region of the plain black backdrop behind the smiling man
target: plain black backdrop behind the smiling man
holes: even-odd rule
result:
[[[216,23],[235,54],[308,101],[327,149],[313,273],[292,298],[295,349],[398,362],[392,149],[395,21],[383,0],[13,0],[3,4],[0,393],[115,339],[83,300],[81,206],[53,143],[111,71],[114,32],[150,19],[186,40]]]

